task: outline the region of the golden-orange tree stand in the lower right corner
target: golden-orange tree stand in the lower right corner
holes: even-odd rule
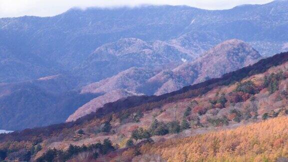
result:
[[[287,121],[287,116],[280,116],[236,129],[145,144],[141,152],[159,154],[167,161],[275,161],[288,157]]]

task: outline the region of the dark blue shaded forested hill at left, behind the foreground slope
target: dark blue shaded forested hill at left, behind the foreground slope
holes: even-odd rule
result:
[[[0,85],[0,125],[21,130],[65,121],[76,108],[98,94],[73,90],[76,79],[54,75]]]

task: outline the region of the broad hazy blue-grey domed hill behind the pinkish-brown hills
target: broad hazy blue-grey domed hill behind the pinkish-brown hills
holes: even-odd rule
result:
[[[197,54],[164,41],[123,38],[98,47],[74,70],[84,78],[99,81],[131,67],[173,67],[196,57]]]

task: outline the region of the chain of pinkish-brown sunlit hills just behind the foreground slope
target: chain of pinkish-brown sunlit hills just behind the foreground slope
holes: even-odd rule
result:
[[[161,95],[178,90],[184,86],[205,81],[209,78],[221,77],[222,74],[255,63],[261,55],[242,40],[231,39],[217,44],[199,58],[186,61],[181,65],[161,72],[145,68],[132,67],[112,77],[90,83],[81,88],[81,93],[106,93],[79,107],[67,121],[76,120],[80,116],[96,111],[97,102],[111,101],[115,90],[126,89],[146,95]],[[113,95],[113,94],[112,94]],[[122,97],[133,95],[125,93]],[[112,97],[114,98],[114,97]],[[120,99],[117,94],[117,99]],[[99,100],[101,99],[101,100]],[[112,99],[117,100],[117,99]]]

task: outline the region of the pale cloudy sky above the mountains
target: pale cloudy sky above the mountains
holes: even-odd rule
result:
[[[272,0],[0,0],[0,17],[53,16],[72,7],[119,7],[141,4],[189,5],[203,9],[228,9],[241,4],[264,4]]]

